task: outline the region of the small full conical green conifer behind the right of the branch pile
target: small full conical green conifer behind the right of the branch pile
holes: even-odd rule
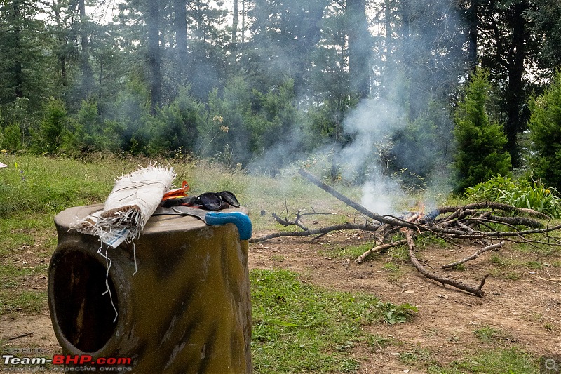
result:
[[[454,114],[458,192],[494,175],[506,174],[511,167],[511,156],[504,150],[503,128],[487,112],[490,89],[489,72],[476,69]]]

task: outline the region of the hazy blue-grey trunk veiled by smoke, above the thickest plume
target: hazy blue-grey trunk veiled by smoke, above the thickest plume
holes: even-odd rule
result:
[[[365,0],[346,0],[349,21],[349,76],[351,91],[366,98],[370,93],[370,33]]]

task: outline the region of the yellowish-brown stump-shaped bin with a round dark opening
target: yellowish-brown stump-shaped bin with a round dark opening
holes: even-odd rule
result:
[[[101,208],[55,217],[48,305],[63,352],[130,357],[140,374],[251,373],[248,241],[236,225],[153,216],[134,245],[107,249],[69,229]]]

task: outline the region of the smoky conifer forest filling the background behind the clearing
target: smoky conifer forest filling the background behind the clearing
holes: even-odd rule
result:
[[[3,0],[0,149],[273,175],[322,159],[371,189],[514,171],[558,189],[560,15],[555,0]]]

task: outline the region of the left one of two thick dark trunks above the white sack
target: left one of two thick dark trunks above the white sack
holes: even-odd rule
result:
[[[152,114],[161,102],[160,38],[158,1],[148,0],[148,67],[150,74],[150,107]]]

